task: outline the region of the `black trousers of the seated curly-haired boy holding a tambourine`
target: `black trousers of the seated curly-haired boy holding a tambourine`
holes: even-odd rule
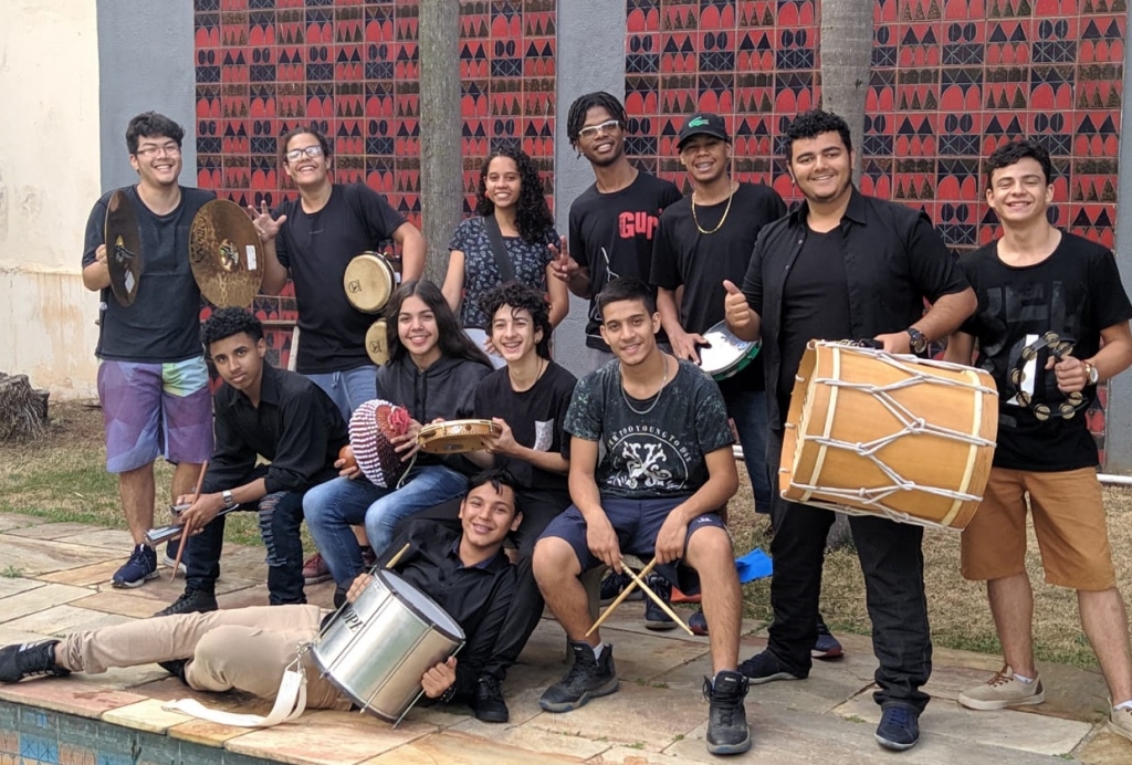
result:
[[[542,618],[542,593],[531,573],[531,559],[534,556],[534,543],[539,541],[542,531],[560,513],[569,507],[569,496],[560,491],[539,491],[537,489],[521,489],[516,495],[518,509],[523,513],[523,523],[518,531],[512,534],[511,539],[518,550],[518,577],[515,586],[515,598],[511,602],[511,610],[496,638],[491,656],[488,659],[483,671],[504,680],[507,677],[507,668],[518,661],[518,654],[523,652],[526,642],[531,638],[531,633],[539,626]],[[427,510],[421,510],[409,516],[401,523],[417,518],[430,518],[440,523],[460,527],[458,521],[460,500],[453,499]]]

